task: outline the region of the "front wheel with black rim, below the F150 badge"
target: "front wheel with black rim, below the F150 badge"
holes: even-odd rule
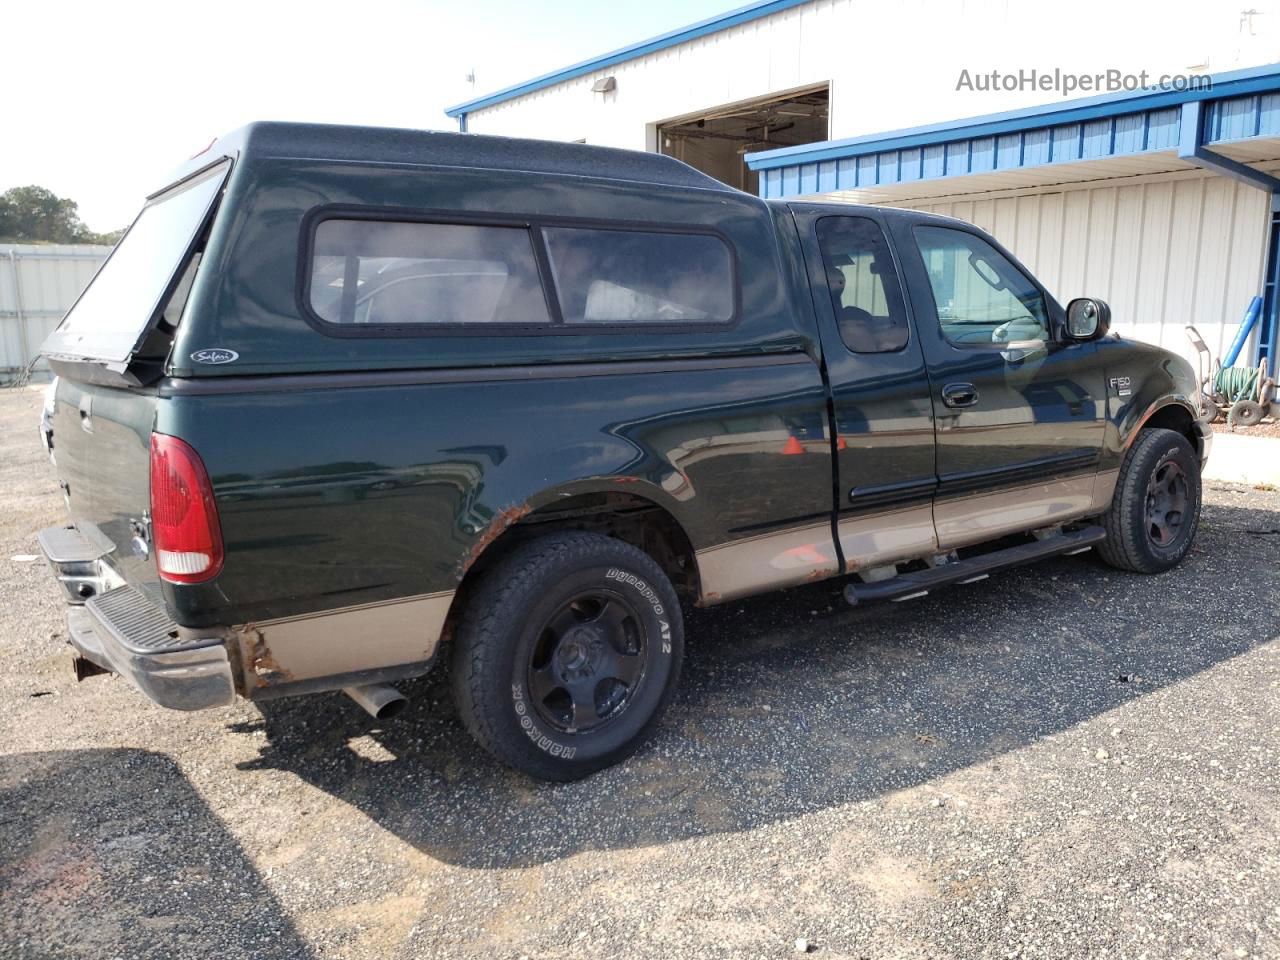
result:
[[[1199,461],[1190,443],[1174,430],[1143,430],[1120,465],[1098,554],[1117,570],[1161,573],[1190,550],[1199,512]]]

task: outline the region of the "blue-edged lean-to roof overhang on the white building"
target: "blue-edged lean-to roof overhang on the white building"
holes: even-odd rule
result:
[[[1199,105],[1188,114],[1199,147],[1242,164],[1280,159],[1280,64],[1206,81],[768,150],[746,163],[763,197],[863,202],[1185,170],[1204,165],[1183,137],[1188,104]]]

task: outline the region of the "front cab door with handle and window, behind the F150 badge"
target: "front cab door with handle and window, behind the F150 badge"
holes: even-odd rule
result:
[[[1093,343],[1062,343],[1061,307],[977,228],[893,223],[933,387],[942,549],[1088,513],[1103,431]]]

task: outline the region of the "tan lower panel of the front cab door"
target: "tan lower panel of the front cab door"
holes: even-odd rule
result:
[[[951,550],[1088,516],[1093,511],[1093,490],[1094,475],[1084,474],[938,500],[933,504],[938,548]]]

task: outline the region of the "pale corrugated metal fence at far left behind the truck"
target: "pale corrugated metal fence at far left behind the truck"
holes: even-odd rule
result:
[[[0,375],[22,370],[110,247],[0,243]]]

